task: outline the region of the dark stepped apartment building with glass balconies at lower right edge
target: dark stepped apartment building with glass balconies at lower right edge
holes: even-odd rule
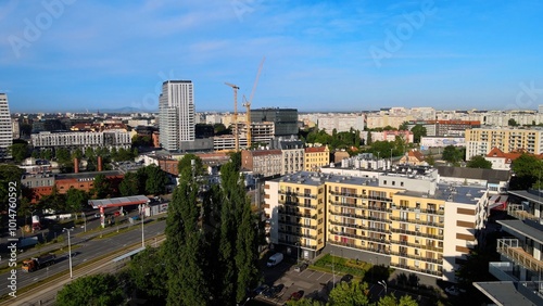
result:
[[[543,194],[508,193],[507,214],[516,219],[497,220],[506,234],[497,240],[501,262],[489,264],[498,281],[473,285],[495,305],[543,305]]]

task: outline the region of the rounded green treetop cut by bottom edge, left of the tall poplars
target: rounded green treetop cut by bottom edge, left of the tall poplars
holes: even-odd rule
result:
[[[122,288],[112,275],[78,278],[59,291],[55,305],[122,305],[125,301]]]

